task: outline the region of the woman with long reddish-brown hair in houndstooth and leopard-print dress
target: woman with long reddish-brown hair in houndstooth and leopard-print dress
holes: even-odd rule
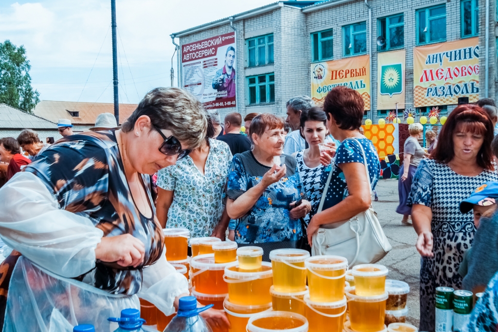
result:
[[[436,287],[462,288],[458,268],[476,227],[460,202],[475,188],[497,181],[491,141],[493,124],[478,106],[461,105],[448,116],[429,159],[420,162],[408,204],[418,234],[420,331],[435,331]]]

